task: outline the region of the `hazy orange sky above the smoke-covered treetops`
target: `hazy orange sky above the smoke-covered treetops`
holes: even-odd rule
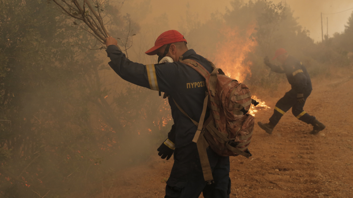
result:
[[[280,1],[281,0],[273,0],[275,3]],[[148,31],[143,24],[151,23],[155,18],[166,13],[168,24],[165,24],[165,28],[158,28],[158,30],[162,32],[168,29],[178,30],[180,24],[183,23],[182,17],[185,15],[188,8],[189,11],[198,16],[201,22],[205,22],[210,19],[211,13],[225,13],[227,7],[231,8],[230,2],[231,0],[129,0],[125,2],[121,11],[130,13],[132,19],[142,24],[141,31]],[[286,3],[294,10],[294,17],[298,17],[299,24],[310,31],[310,37],[315,41],[321,40],[321,12],[335,13],[353,8],[353,0],[286,0]],[[137,9],[143,11],[134,12]],[[344,30],[344,26],[347,24],[348,17],[351,15],[352,11],[353,10],[337,14],[325,14],[323,16],[324,34],[327,30],[327,17],[329,26],[328,33],[329,36],[332,36],[333,33],[342,32]],[[162,17],[162,19],[163,18],[165,17]],[[156,33],[161,32],[158,31]]]

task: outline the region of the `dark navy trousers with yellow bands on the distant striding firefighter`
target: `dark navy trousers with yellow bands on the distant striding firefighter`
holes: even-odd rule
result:
[[[304,91],[304,99],[306,101],[307,97],[309,97],[311,93],[311,90],[306,90]],[[277,123],[280,121],[281,117],[289,110],[292,108],[292,113],[293,115],[298,118],[299,120],[310,124],[312,123],[313,120],[315,120],[314,116],[310,116],[306,111],[303,110],[303,107],[305,105],[304,103],[299,104],[297,102],[297,92],[294,89],[291,89],[289,92],[281,98],[275,106],[275,110],[273,112],[273,115],[270,118],[270,123],[273,125],[277,125]]]

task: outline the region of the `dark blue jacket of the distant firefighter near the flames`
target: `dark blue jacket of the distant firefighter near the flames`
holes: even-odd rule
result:
[[[297,93],[312,90],[309,73],[297,58],[289,55],[283,66],[271,64],[270,68],[273,72],[285,73],[289,84]]]

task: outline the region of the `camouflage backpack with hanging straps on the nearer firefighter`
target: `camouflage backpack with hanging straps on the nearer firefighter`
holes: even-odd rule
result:
[[[255,123],[254,117],[247,114],[252,102],[251,94],[246,85],[226,76],[222,69],[216,68],[211,61],[209,63],[213,69],[212,73],[195,60],[186,59],[181,62],[195,69],[206,79],[208,92],[199,122],[191,119],[177,103],[175,104],[198,126],[192,141],[197,143],[204,179],[211,184],[213,177],[206,153],[208,146],[220,156],[251,156],[247,149]],[[210,108],[210,117],[204,122],[207,106]]]

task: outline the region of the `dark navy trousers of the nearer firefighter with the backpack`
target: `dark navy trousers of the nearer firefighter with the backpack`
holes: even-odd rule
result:
[[[217,155],[210,147],[207,155],[212,169],[214,184],[208,185],[204,178],[196,143],[174,150],[174,164],[167,181],[164,198],[229,198],[229,157]]]

